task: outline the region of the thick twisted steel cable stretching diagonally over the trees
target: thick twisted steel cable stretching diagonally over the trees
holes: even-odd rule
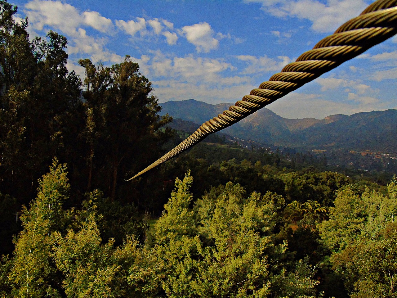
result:
[[[396,6],[397,0],[378,0],[372,3],[360,15],[341,25],[335,33],[319,41],[312,50],[304,52],[295,62],[272,75],[269,81],[252,89],[249,95],[245,95],[235,105],[230,106],[229,110],[204,122],[174,149],[126,181],[172,159],[209,134],[239,122],[343,62],[392,37],[397,33]]]

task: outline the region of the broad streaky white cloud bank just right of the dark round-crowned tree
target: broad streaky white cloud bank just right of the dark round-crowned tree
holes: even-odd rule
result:
[[[229,75],[237,71],[223,59],[184,57],[164,54],[160,50],[145,67],[152,78],[154,95],[162,101],[194,98],[208,103],[235,102],[254,88],[250,76]]]

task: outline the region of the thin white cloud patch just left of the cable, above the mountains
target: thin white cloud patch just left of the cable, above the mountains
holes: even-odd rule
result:
[[[286,56],[278,56],[278,60],[274,60],[264,55],[262,57],[255,57],[251,55],[239,55],[235,56],[241,61],[247,62],[248,66],[243,70],[243,74],[259,74],[264,72],[279,72],[281,69],[292,62],[292,60]]]

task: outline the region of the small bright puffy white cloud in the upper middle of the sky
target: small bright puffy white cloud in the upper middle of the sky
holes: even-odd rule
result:
[[[198,53],[208,53],[210,50],[218,48],[219,41],[214,38],[214,30],[207,22],[182,27],[182,34],[187,41],[196,46]]]

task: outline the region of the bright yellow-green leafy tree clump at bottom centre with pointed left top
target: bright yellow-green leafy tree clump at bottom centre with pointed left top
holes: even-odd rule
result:
[[[136,259],[129,282],[145,297],[314,297],[314,269],[276,240],[282,196],[213,189],[192,208],[188,172]]]

